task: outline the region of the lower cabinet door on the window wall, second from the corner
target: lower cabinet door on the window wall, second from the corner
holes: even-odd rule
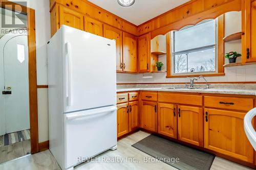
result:
[[[158,103],[158,133],[177,138],[176,105]]]

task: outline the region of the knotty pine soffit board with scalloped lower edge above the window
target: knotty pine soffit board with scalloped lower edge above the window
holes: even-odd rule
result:
[[[138,27],[138,34],[143,35],[151,32],[151,38],[154,38],[157,35],[164,35],[172,30],[180,30],[187,25],[196,25],[204,19],[215,19],[229,11],[241,11],[241,0],[219,2],[211,0],[192,1],[175,10],[159,15],[149,22],[145,22]]]

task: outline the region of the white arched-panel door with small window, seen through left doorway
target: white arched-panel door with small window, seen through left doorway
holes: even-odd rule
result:
[[[27,35],[9,39],[3,55],[6,133],[30,129]]]

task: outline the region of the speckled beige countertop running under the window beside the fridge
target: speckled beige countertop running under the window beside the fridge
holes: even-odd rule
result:
[[[166,87],[157,87],[157,88],[118,88],[117,92],[126,92],[126,91],[170,91],[170,92],[194,92],[194,93],[216,93],[216,94],[241,94],[241,95],[256,95],[256,90],[247,90],[247,89],[224,89],[224,88],[209,88],[209,89],[186,89],[186,88],[175,88],[168,89]]]

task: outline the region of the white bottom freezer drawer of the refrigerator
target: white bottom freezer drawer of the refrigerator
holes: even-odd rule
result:
[[[64,114],[65,168],[117,144],[116,106]]]

